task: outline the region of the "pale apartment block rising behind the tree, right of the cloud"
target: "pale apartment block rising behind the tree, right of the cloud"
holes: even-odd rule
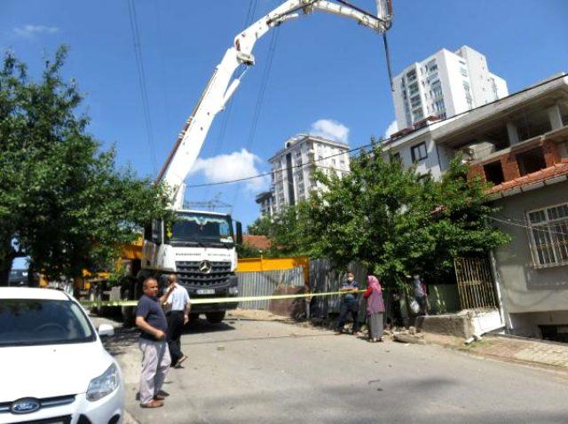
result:
[[[313,170],[328,176],[343,177],[349,173],[349,145],[308,134],[289,138],[284,148],[269,162],[272,164],[272,213],[307,200],[322,185],[313,178]]]

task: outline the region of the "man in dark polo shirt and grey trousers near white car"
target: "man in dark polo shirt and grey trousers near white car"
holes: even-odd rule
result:
[[[142,333],[138,345],[142,350],[140,375],[140,406],[159,408],[164,397],[159,394],[166,373],[170,368],[170,351],[166,342],[168,321],[162,310],[162,302],[168,298],[168,290],[158,298],[158,282],[154,278],[144,280],[144,294],[136,307],[136,325]]]

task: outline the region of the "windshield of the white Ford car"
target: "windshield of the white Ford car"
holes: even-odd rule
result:
[[[83,310],[70,301],[0,299],[0,347],[93,342]]]

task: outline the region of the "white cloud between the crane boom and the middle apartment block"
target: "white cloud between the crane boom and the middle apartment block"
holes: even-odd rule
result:
[[[198,158],[189,174],[201,173],[209,183],[221,183],[262,174],[256,168],[257,163],[262,163],[262,159],[247,149],[241,149],[241,152],[219,154],[207,159]],[[245,187],[252,192],[265,190],[269,182],[269,176],[243,181]]]

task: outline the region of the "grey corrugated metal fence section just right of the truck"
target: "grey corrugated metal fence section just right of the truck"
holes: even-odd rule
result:
[[[279,287],[304,287],[304,268],[289,270],[238,272],[240,296],[270,296]],[[268,310],[270,301],[239,302],[244,310]]]

